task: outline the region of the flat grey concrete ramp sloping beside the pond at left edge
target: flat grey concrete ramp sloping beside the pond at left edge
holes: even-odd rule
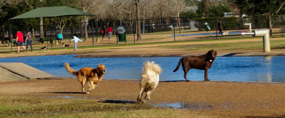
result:
[[[27,77],[28,79],[37,79],[43,77],[53,77],[46,72],[43,72],[39,69],[31,67],[27,64],[15,62],[15,63],[0,63],[0,67],[7,69],[13,73],[21,75],[23,77]]]

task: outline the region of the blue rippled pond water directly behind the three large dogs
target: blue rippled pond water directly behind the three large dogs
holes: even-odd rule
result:
[[[104,79],[140,79],[143,62],[150,60],[163,68],[160,80],[185,80],[182,67],[177,72],[173,72],[181,57],[73,58],[73,56],[75,55],[1,58],[0,62],[23,62],[51,75],[67,77],[74,76],[64,69],[65,62],[75,70],[105,64],[107,72]],[[208,77],[215,81],[285,83],[284,60],[285,56],[217,57],[208,70]],[[191,69],[187,79],[203,81],[204,71]]]

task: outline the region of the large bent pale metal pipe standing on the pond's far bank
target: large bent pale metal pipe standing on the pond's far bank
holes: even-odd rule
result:
[[[242,32],[241,35],[262,36],[263,38],[263,52],[270,52],[269,29],[253,30],[251,33]]]

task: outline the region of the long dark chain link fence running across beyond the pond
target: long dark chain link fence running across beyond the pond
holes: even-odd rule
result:
[[[223,32],[229,31],[228,35],[219,36],[218,21],[222,20]],[[180,26],[179,22],[180,21]],[[30,30],[33,36],[34,49],[40,49],[43,46],[49,46],[50,48],[63,48],[61,43],[71,45],[74,43],[70,41],[73,38],[73,34],[77,34],[83,43],[78,43],[80,46],[102,46],[102,45],[117,45],[117,44],[137,44],[137,43],[158,43],[158,42],[177,42],[177,41],[194,41],[194,40],[216,40],[216,39],[229,39],[229,38],[250,38],[251,35],[241,36],[241,31],[249,31],[248,25],[244,23],[251,23],[252,30],[265,29],[268,26],[268,18],[265,14],[256,16],[245,16],[243,14],[230,14],[224,16],[189,16],[189,17],[174,17],[174,18],[157,18],[157,19],[143,19],[140,20],[140,34],[141,40],[137,40],[137,24],[136,20],[124,20],[109,22],[109,25],[113,29],[113,34],[110,40],[108,35],[105,40],[102,40],[102,26],[96,26],[98,22],[89,22],[87,24],[87,35],[85,35],[85,23],[76,24],[64,24],[62,29],[63,40],[58,41],[57,33],[60,29],[56,25],[44,25],[43,31],[40,31],[39,26],[26,26],[16,27],[11,26],[12,37],[15,40],[16,30],[20,29],[21,32],[26,35],[26,31]],[[205,22],[210,27],[210,30],[206,30]],[[272,35],[281,36],[281,28],[285,26],[284,15],[271,16]],[[61,24],[62,26],[62,24]],[[124,35],[118,34],[117,29],[123,27]],[[107,29],[107,24],[106,24]],[[5,43],[9,41],[8,29],[5,32]],[[43,38],[42,38],[43,37]],[[42,39],[42,41],[40,41]],[[5,47],[1,42],[0,51],[17,51],[15,43],[11,48]],[[60,44],[58,44],[60,43]]]

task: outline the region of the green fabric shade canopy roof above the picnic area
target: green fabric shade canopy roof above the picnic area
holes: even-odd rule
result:
[[[77,15],[93,15],[86,12],[82,12],[71,7],[59,6],[59,7],[39,7],[29,12],[20,14],[12,19],[21,18],[37,18],[37,17],[59,17],[59,16],[77,16]]]

